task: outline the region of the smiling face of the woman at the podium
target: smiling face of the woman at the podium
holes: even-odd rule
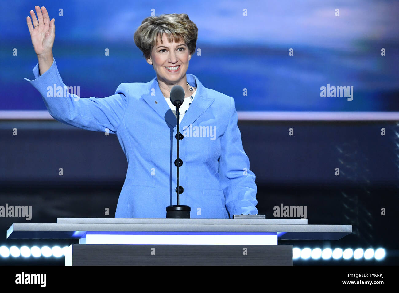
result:
[[[152,48],[147,62],[154,66],[158,81],[162,80],[167,85],[176,85],[186,76],[190,59],[191,54],[187,45],[183,41],[169,43],[164,33],[162,43],[158,36],[158,42]]]

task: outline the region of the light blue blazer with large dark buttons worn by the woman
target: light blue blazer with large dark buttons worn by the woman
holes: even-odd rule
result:
[[[176,116],[155,77],[148,83],[122,83],[113,96],[63,96],[55,60],[30,82],[53,118],[78,128],[116,134],[127,161],[126,179],[115,218],[166,218],[176,205]],[[180,122],[180,205],[191,218],[233,218],[257,214],[255,174],[243,150],[234,99],[203,87],[187,74],[197,93]],[[54,85],[58,96],[54,96]],[[59,90],[61,89],[61,90]]]

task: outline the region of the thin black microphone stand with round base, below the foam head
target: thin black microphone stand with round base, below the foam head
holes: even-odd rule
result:
[[[176,118],[177,118],[177,205],[171,205],[166,207],[166,218],[190,218],[190,206],[181,206],[180,205],[180,193],[183,193],[184,189],[180,186],[180,156],[179,156],[179,142],[180,142],[180,128],[179,128],[179,108],[180,108],[180,101],[176,103]]]

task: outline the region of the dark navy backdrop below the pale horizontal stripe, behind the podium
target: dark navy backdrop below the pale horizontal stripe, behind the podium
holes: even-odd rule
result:
[[[18,136],[12,136],[12,128]],[[127,169],[114,135],[56,121],[0,122],[0,203],[32,205],[32,223],[57,217],[105,217],[115,209]],[[297,260],[294,264],[397,264],[398,122],[239,121],[245,152],[256,175],[259,213],[273,218],[275,205],[306,205],[308,224],[351,224],[338,241],[279,241],[294,247],[385,248],[383,261]],[[288,136],[294,128],[294,136]],[[381,128],[386,136],[381,136]],[[149,134],[148,134],[149,135]],[[64,175],[58,175],[63,167]],[[340,176],[335,176],[335,168]],[[198,184],[201,184],[200,182]],[[386,216],[381,215],[386,208]],[[0,218],[0,246],[66,246],[71,240],[6,240],[23,218]],[[32,258],[30,258],[32,259]],[[2,264],[29,264],[22,258]],[[36,264],[63,264],[63,258]]]

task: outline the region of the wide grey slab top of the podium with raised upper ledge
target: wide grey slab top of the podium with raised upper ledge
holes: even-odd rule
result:
[[[86,232],[275,232],[281,240],[338,240],[352,225],[309,225],[304,219],[57,218],[14,223],[8,239],[79,239]]]

